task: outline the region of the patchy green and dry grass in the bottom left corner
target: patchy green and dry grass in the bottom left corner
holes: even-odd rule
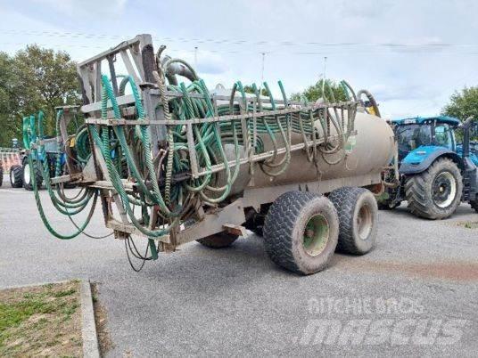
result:
[[[81,356],[79,282],[0,290],[0,356]]]

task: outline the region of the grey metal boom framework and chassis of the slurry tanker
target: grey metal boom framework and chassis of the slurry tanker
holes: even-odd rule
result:
[[[139,85],[141,90],[142,99],[144,102],[144,110],[146,119],[142,122],[137,120],[131,120],[127,118],[113,119],[112,113],[108,113],[108,119],[100,118],[101,110],[101,76],[102,76],[102,64],[104,61],[108,62],[111,77],[116,77],[115,60],[116,56],[120,56],[125,64],[128,75],[132,76],[136,80],[136,84]],[[240,121],[243,131],[244,141],[244,154],[240,158],[240,164],[250,163],[251,167],[254,163],[271,158],[274,151],[266,151],[263,153],[255,154],[253,149],[257,142],[257,120],[258,118],[264,118],[266,116],[274,116],[276,118],[289,118],[290,120],[302,120],[299,115],[304,110],[309,111],[309,114],[322,113],[322,116],[327,121],[327,114],[330,108],[334,109],[335,114],[342,113],[343,110],[348,110],[349,116],[355,116],[357,110],[356,102],[341,102],[335,104],[316,104],[309,107],[298,107],[300,102],[289,102],[289,107],[284,108],[283,101],[276,101],[276,104],[283,108],[275,111],[263,111],[263,112],[251,112],[242,113],[234,116],[221,116],[213,118],[194,118],[189,120],[169,120],[166,121],[161,107],[161,94],[158,86],[154,83],[152,77],[152,69],[155,68],[154,53],[152,53],[152,38],[150,35],[139,35],[133,39],[122,42],[121,44],[111,48],[108,51],[100,53],[87,61],[80,62],[78,64],[78,77],[83,92],[84,105],[80,110],[87,117],[86,122],[90,125],[106,125],[106,126],[136,126],[138,124],[148,126],[150,135],[152,138],[152,151],[155,156],[160,151],[159,144],[164,141],[167,133],[167,126],[184,125],[186,128],[187,145],[189,149],[190,162],[192,166],[191,175],[193,177],[199,177],[205,175],[206,169],[202,168],[198,164],[195,148],[194,148],[194,131],[195,125],[210,122],[231,122]],[[131,116],[135,112],[133,106],[135,100],[132,95],[118,95],[117,85],[113,85],[115,95],[117,95],[117,102],[121,106],[122,115],[124,117]],[[167,91],[166,95],[169,98],[181,97],[182,94]],[[200,95],[191,94],[191,97],[203,98]],[[213,94],[210,96],[210,101],[213,102],[214,108],[217,110],[218,101],[231,100],[230,96]],[[242,108],[243,98],[236,95],[235,102],[238,102]],[[252,103],[254,108],[257,108],[258,100],[255,97],[247,98],[247,102]],[[267,99],[261,99],[261,102],[270,102]],[[216,112],[217,114],[217,112]],[[110,119],[111,118],[111,119]],[[343,119],[343,118],[342,118]],[[330,123],[328,126],[330,126]],[[251,126],[249,126],[251,124]],[[66,126],[65,130],[66,130]],[[62,127],[63,129],[63,127]],[[251,133],[252,131],[252,133]],[[352,134],[354,132],[352,131]],[[63,134],[62,134],[63,136]],[[327,133],[326,138],[328,141],[337,139],[336,136]],[[63,138],[64,140],[64,138]],[[128,234],[135,234],[144,236],[139,232],[136,227],[129,223],[128,216],[126,215],[123,207],[121,206],[118,193],[116,193],[112,187],[106,165],[103,157],[100,154],[99,148],[91,140],[93,145],[93,155],[90,162],[84,168],[81,183],[95,187],[101,190],[104,221],[107,227],[113,229],[116,233],[116,237],[124,238]],[[323,143],[324,139],[318,139],[316,135],[312,135],[310,140],[307,140],[304,136],[304,141],[297,144],[290,144],[290,151],[309,151],[310,148],[314,149],[319,144]],[[278,148],[276,155],[283,154],[286,151],[285,147]],[[211,167],[212,173],[217,173],[225,168],[225,166],[234,166],[235,160],[228,163],[221,163]],[[317,178],[318,179],[318,178]],[[61,183],[70,180],[69,175],[63,175],[59,178],[54,178],[54,183]],[[253,180],[253,176],[252,176]],[[360,177],[340,178],[329,181],[318,180],[312,183],[294,183],[287,185],[270,186],[266,188],[254,188],[248,187],[243,191],[243,197],[235,199],[235,201],[229,203],[226,207],[206,207],[204,211],[203,207],[197,208],[198,217],[200,221],[191,227],[177,228],[173,235],[165,235],[155,240],[162,243],[162,248],[165,250],[174,249],[177,245],[182,243],[196,240],[210,234],[214,234],[222,231],[229,231],[235,233],[244,233],[244,228],[241,226],[245,222],[244,209],[246,207],[260,207],[261,204],[270,203],[280,194],[285,191],[302,190],[313,192],[327,192],[332,191],[335,188],[344,185],[372,185],[381,183],[380,173],[363,175]],[[127,191],[135,191],[136,184],[129,183],[127,180],[123,181],[123,184]],[[115,218],[112,214],[111,202],[115,203],[115,207],[119,213],[119,219]],[[153,215],[152,215],[152,220]],[[148,238],[151,239],[151,238]]]

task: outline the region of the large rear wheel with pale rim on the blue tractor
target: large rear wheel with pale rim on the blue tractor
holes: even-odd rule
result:
[[[412,214],[433,220],[451,216],[460,204],[462,191],[460,170],[448,158],[437,159],[427,170],[411,176],[405,183]]]

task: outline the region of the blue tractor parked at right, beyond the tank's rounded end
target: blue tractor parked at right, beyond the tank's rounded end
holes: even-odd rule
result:
[[[378,199],[379,207],[391,209],[407,200],[414,215],[444,219],[465,201],[478,212],[473,118],[464,123],[446,116],[401,118],[391,125],[398,144],[399,178],[393,178],[392,172],[385,174],[386,182],[395,180]]]

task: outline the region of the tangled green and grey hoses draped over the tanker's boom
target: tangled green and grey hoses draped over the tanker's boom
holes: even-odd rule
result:
[[[210,118],[214,116],[225,116],[233,114],[251,113],[252,111],[278,110],[289,106],[285,96],[284,87],[279,81],[279,87],[282,93],[284,104],[276,105],[276,102],[268,88],[268,84],[264,83],[264,88],[268,93],[268,102],[265,105],[261,101],[260,89],[256,85],[252,85],[255,92],[257,105],[252,105],[248,101],[247,94],[240,81],[233,86],[231,101],[228,104],[214,105],[210,100],[211,96],[206,85],[199,79],[194,70],[194,80],[190,85],[181,83],[179,85],[167,85],[165,73],[168,65],[174,61],[169,60],[164,67],[160,66],[158,72],[154,72],[157,85],[161,91],[161,107],[163,109],[165,119],[185,120],[191,118]],[[181,63],[185,63],[181,61]],[[185,65],[187,65],[185,63]],[[189,68],[190,66],[187,65]],[[113,78],[117,81],[118,78]],[[350,98],[350,87],[342,82],[342,88],[346,98]],[[136,83],[132,77],[122,76],[119,84],[119,95],[124,94],[127,86],[135,99],[136,108],[136,126],[106,126],[106,125],[87,125],[78,128],[76,133],[76,154],[77,160],[81,164],[86,164],[90,159],[93,144],[99,149],[107,168],[108,179],[111,185],[119,195],[121,205],[128,215],[131,224],[144,235],[150,238],[158,238],[167,234],[171,227],[176,224],[185,222],[189,217],[193,216],[194,208],[198,205],[207,203],[211,206],[218,205],[227,199],[233,183],[239,173],[241,148],[244,142],[252,141],[252,138],[245,138],[243,127],[240,121],[211,121],[194,124],[194,147],[197,153],[197,161],[203,168],[200,177],[193,178],[191,175],[186,180],[175,181],[177,174],[191,173],[190,153],[188,151],[187,137],[185,126],[168,125],[167,142],[165,149],[161,149],[156,157],[152,156],[152,141],[150,138],[149,124],[146,121],[141,96],[139,94]],[[181,94],[180,96],[168,97],[167,91],[173,91]],[[235,93],[240,95],[241,103],[235,101]],[[332,90],[332,102],[335,102]],[[193,95],[194,94],[194,95]],[[199,94],[199,95],[198,95]],[[307,104],[307,103],[305,103]],[[280,108],[279,108],[280,107]],[[108,110],[112,109],[115,119],[122,118],[122,111],[117,102],[111,85],[111,79],[102,77],[102,118],[108,118]],[[59,121],[62,118],[62,110],[57,114],[57,136],[59,136]],[[294,118],[292,115],[282,115],[258,118],[256,123],[257,134],[265,134],[273,145],[274,154],[261,161],[260,168],[267,175],[281,175],[286,170],[291,159],[291,134],[302,134],[304,138],[314,139],[318,134],[315,128],[314,116],[310,110],[304,110],[299,115],[300,118]],[[347,141],[353,123],[341,123],[336,113],[335,118],[329,117],[340,140],[338,143],[325,142],[319,146],[322,155],[332,154],[343,148],[343,143]],[[90,212],[83,224],[76,225],[77,230],[69,235],[63,235],[56,232],[45,217],[39,194],[37,183],[33,178],[33,186],[37,207],[40,216],[45,223],[47,229],[54,236],[61,239],[70,239],[83,232],[93,215],[98,192],[94,188],[84,187],[74,198],[66,197],[62,191],[62,185],[52,185],[50,181],[50,173],[46,161],[43,164],[39,160],[35,160],[38,154],[45,154],[42,138],[44,115],[42,112],[38,114],[38,128],[35,125],[35,117],[24,118],[24,142],[25,147],[30,150],[29,164],[33,167],[35,164],[41,166],[43,176],[45,178],[46,188],[50,194],[50,198],[63,215],[75,216],[84,210],[90,200]],[[350,120],[350,116],[349,116]],[[342,118],[343,121],[343,118]],[[352,119],[353,121],[353,119]],[[323,133],[328,133],[329,128],[326,127],[324,121],[320,121],[323,127]],[[248,126],[252,126],[252,121],[248,121]],[[38,129],[38,134],[36,133]],[[346,130],[345,130],[346,129]],[[248,130],[251,135],[252,130]],[[91,136],[90,136],[91,135]],[[94,143],[89,142],[92,138]],[[277,151],[280,144],[285,148],[284,156],[277,159],[279,155]],[[227,158],[224,144],[232,144],[234,146],[234,163],[230,166]],[[59,142],[59,153],[61,155],[62,147]],[[264,151],[264,143],[260,137],[253,142],[251,150],[253,154]],[[308,149],[309,159],[316,155],[317,148]],[[217,184],[217,175],[211,170],[211,167],[217,164],[224,166],[225,183]],[[61,162],[59,157],[56,160],[55,176],[61,175]],[[33,175],[34,177],[35,175]],[[135,191],[128,191],[125,181],[136,184]],[[141,208],[141,216],[136,217],[135,207]],[[155,222],[151,222],[151,216],[155,215]],[[160,224],[161,222],[161,224]]]

